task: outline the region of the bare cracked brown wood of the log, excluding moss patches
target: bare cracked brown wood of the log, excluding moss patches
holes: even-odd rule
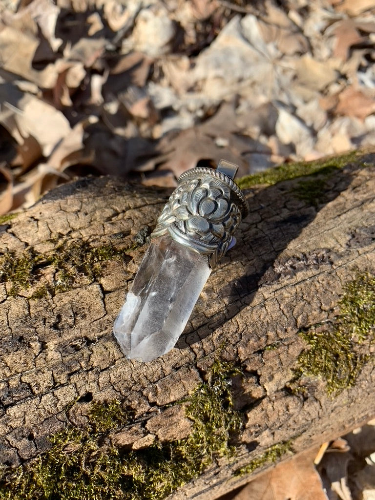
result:
[[[50,259],[41,257],[28,288],[11,294],[12,284],[0,283],[0,461],[27,461],[48,448],[47,436],[68,418],[79,424],[79,411],[65,412],[74,400],[83,413],[91,399],[126,401],[136,423],[121,429],[122,444],[183,437],[189,426],[167,405],[191,393],[215,357],[244,370],[233,389],[244,418],[237,457],[212,465],[173,498],[214,498],[248,480],[230,478],[232,471],[272,444],[292,439],[298,451],[373,417],[371,362],[336,397],[316,379],[304,380],[303,396],[288,389],[306,347],[298,331],[334,316],[355,267],[375,271],[373,160],[366,155],[327,177],[317,207],[293,191],[300,178],[247,190],[250,213],[236,246],[212,272],[176,347],[149,363],[124,358],[111,327],[165,191],[92,178],[59,187],[4,222],[4,255],[27,248],[50,255],[56,247],[62,254],[74,241],[133,250],[101,262],[91,276],[75,269],[65,291]],[[30,298],[43,285],[46,295]]]

